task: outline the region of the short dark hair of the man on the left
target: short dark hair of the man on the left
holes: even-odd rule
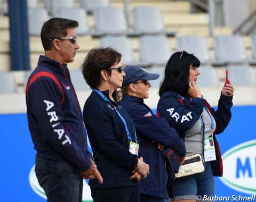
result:
[[[41,29],[41,41],[44,51],[51,49],[52,43],[50,38],[59,38],[67,36],[67,29],[77,28],[78,22],[65,18],[52,18],[43,24]]]

